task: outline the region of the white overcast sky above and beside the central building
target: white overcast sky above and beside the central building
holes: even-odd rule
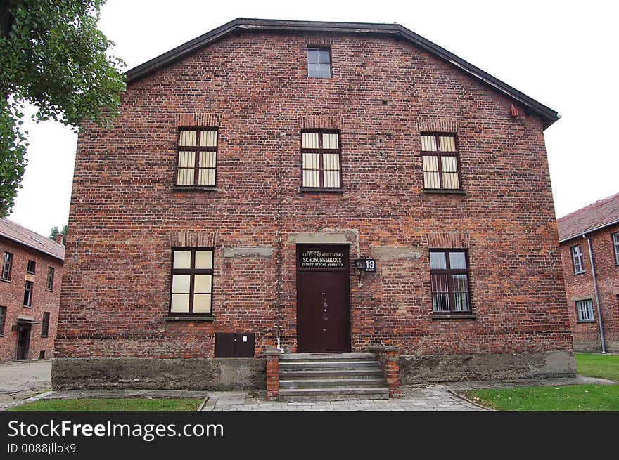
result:
[[[561,119],[545,131],[556,215],[619,192],[615,1],[108,0],[101,30],[127,69],[234,18],[397,22],[505,81]],[[48,235],[68,221],[77,135],[28,126],[28,164],[9,218]]]

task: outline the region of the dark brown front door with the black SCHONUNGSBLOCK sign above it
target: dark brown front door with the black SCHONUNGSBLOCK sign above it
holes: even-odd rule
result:
[[[297,348],[303,352],[350,351],[347,246],[297,249]]]

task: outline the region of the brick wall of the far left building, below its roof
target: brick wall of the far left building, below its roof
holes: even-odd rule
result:
[[[39,238],[45,237],[39,235]],[[5,251],[13,254],[13,267],[10,281],[0,280],[0,306],[6,307],[4,334],[0,335],[0,362],[14,360],[16,357],[18,320],[22,320],[25,324],[32,322],[27,359],[39,359],[42,352],[44,359],[51,359],[58,324],[63,261],[0,235],[0,257],[4,256]],[[36,263],[34,275],[26,271],[29,260]],[[46,289],[49,267],[54,269],[51,291]],[[24,288],[27,280],[33,282],[30,307],[24,306]],[[42,336],[44,312],[49,313],[47,336]]]

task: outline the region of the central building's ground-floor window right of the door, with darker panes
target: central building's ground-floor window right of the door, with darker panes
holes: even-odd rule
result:
[[[430,281],[434,313],[471,311],[466,251],[430,249]]]

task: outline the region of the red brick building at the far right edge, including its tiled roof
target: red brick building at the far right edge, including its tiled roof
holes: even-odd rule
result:
[[[619,194],[557,225],[574,350],[619,353]]]

